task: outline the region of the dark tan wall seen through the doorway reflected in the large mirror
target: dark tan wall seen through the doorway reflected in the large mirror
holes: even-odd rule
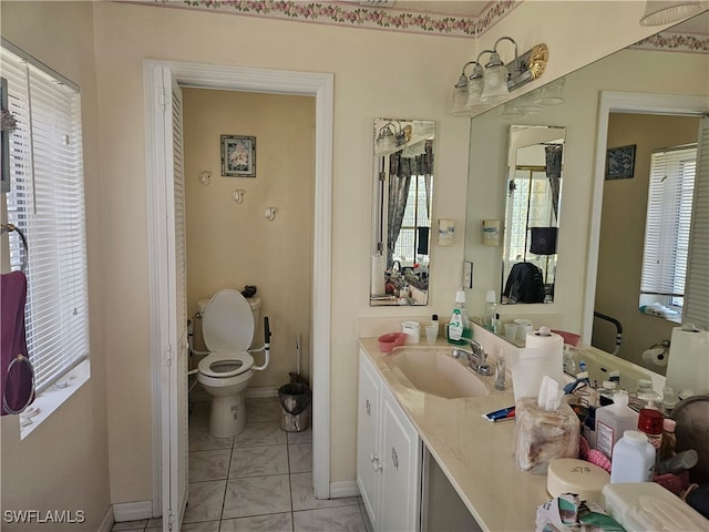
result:
[[[635,175],[604,183],[595,309],[623,324],[619,355],[640,366],[643,351],[669,340],[677,326],[638,311],[650,154],[696,143],[698,131],[696,116],[614,113],[608,121],[608,147],[636,144]],[[613,351],[615,327],[596,320],[594,346]]]

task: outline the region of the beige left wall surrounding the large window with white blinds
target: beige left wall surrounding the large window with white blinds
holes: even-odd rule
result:
[[[8,524],[2,530],[95,531],[109,510],[99,102],[91,2],[0,4],[2,37],[81,88],[84,137],[91,379],[20,441],[2,417],[2,510],[83,510],[84,524]],[[4,204],[4,198],[2,198]]]

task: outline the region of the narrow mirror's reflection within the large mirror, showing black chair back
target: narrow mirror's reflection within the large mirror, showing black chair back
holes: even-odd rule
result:
[[[565,134],[557,126],[510,126],[503,305],[554,301]]]

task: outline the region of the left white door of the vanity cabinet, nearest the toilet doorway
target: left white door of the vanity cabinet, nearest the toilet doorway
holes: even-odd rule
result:
[[[381,463],[378,454],[380,379],[360,355],[359,405],[357,413],[357,484],[374,530],[377,526]]]

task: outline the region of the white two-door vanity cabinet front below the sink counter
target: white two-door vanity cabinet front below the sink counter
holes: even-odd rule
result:
[[[420,530],[423,443],[360,351],[357,483],[374,531]]]

